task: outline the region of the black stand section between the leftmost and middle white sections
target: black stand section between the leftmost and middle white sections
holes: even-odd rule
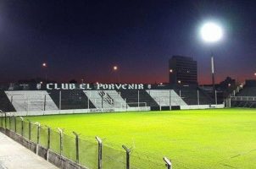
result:
[[[82,90],[48,90],[48,92],[58,108],[61,102],[61,110],[95,108]],[[60,95],[61,101],[59,101]]]

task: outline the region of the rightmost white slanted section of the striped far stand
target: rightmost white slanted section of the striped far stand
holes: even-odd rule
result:
[[[147,93],[160,106],[185,106],[186,102],[181,99],[174,90],[147,90]]]

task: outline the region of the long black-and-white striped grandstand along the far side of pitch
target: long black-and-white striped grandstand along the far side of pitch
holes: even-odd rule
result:
[[[0,97],[5,112],[124,112],[217,105],[198,85],[9,84],[1,86]]]

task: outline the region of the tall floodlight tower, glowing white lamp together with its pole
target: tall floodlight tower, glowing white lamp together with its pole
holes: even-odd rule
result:
[[[204,23],[200,34],[205,43],[216,43],[220,41],[223,37],[223,30],[220,25],[214,22]],[[213,84],[213,93],[215,92],[215,79],[214,79],[214,54],[211,52],[211,72],[212,72],[212,84]],[[215,93],[216,97],[216,93]]]

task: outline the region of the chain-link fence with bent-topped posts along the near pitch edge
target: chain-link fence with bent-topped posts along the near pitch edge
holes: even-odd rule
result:
[[[96,137],[95,141],[81,139],[79,134],[65,134],[61,128],[53,129],[40,123],[32,123],[23,117],[7,117],[0,113],[0,128],[10,130],[24,139],[41,145],[47,150],[53,150],[81,166],[90,169],[162,169],[171,168],[167,161],[159,163],[144,155],[133,153],[125,145],[114,149]],[[170,161],[169,161],[170,162]]]

